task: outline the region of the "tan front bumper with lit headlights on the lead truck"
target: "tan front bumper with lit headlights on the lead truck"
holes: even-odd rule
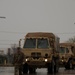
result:
[[[38,68],[45,68],[47,67],[48,63],[51,63],[51,58],[39,58],[39,59],[33,59],[33,58],[26,58],[25,63],[27,63],[29,66],[38,67]]]

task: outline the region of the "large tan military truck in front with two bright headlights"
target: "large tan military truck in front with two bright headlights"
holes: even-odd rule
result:
[[[23,73],[34,73],[37,68],[47,68],[48,73],[58,72],[59,40],[53,33],[27,33],[22,48],[25,54]]]

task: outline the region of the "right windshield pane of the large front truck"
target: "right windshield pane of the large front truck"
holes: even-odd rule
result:
[[[37,48],[49,48],[48,39],[39,38],[37,41]]]

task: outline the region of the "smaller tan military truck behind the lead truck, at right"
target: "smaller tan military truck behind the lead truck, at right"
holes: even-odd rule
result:
[[[73,68],[73,51],[72,43],[60,43],[59,56],[60,56],[60,66],[64,66],[66,69]]]

